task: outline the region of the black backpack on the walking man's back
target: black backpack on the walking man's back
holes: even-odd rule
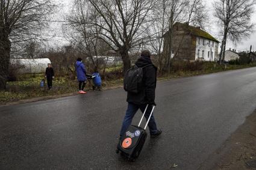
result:
[[[130,93],[139,93],[143,88],[143,68],[148,67],[148,64],[144,67],[138,67],[133,65],[125,72],[125,78],[123,80],[123,88]]]

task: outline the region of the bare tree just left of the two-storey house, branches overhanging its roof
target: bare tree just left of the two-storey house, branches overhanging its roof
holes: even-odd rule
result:
[[[173,26],[176,22],[184,22],[185,26],[189,25],[207,26],[207,11],[203,0],[161,0],[156,6],[155,20],[149,23],[149,31],[154,32],[153,36],[149,37],[151,41],[149,46],[158,54],[159,70],[170,71],[170,58],[178,55],[178,50],[183,44],[184,35],[178,43],[178,49],[173,50]],[[166,34],[167,36],[165,36]],[[164,40],[164,37],[167,40]],[[165,43],[163,43],[165,41]],[[167,46],[164,46],[167,45]],[[162,52],[163,51],[163,52]]]

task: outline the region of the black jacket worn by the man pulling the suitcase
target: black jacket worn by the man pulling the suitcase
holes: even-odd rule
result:
[[[135,63],[138,67],[143,68],[143,90],[140,93],[128,93],[127,102],[136,105],[153,104],[155,102],[155,87],[157,85],[157,67],[153,65],[149,57],[140,57]]]

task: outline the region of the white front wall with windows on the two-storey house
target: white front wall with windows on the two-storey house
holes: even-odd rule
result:
[[[215,61],[219,43],[203,37],[196,37],[195,59]]]

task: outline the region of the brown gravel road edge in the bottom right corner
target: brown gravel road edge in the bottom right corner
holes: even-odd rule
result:
[[[256,169],[256,110],[198,169]]]

